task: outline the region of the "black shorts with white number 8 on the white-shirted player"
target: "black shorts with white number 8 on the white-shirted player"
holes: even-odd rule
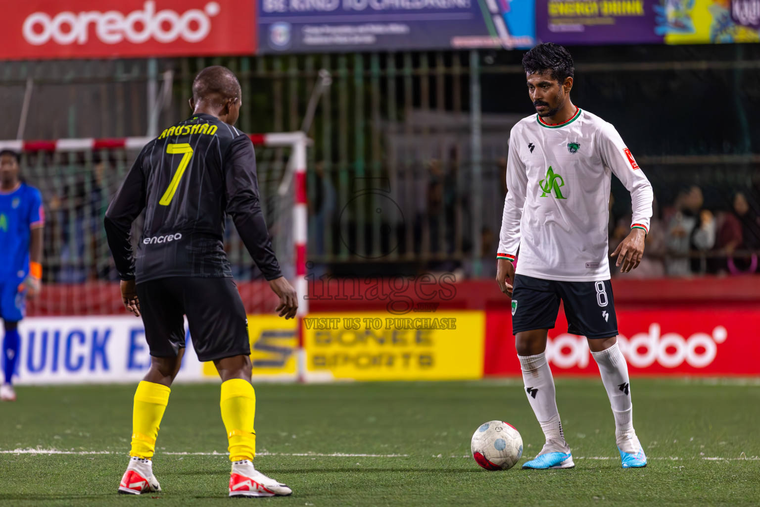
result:
[[[568,333],[587,338],[617,336],[617,317],[610,280],[561,282],[515,275],[512,290],[512,334],[553,329],[559,300],[565,303]]]

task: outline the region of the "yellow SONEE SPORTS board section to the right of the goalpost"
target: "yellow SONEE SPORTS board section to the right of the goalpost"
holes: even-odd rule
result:
[[[304,318],[308,379],[483,377],[485,312],[314,313]]]

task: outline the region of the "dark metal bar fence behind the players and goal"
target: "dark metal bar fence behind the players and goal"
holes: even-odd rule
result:
[[[679,53],[670,48],[574,50],[575,100],[613,122],[636,148],[655,187],[662,211],[657,223],[666,243],[671,219],[685,211],[676,201],[689,185],[701,187],[702,205],[716,220],[731,214],[739,191],[746,195],[752,217],[760,211],[760,157],[753,155],[760,153],[760,135],[741,126],[760,114],[760,51],[743,49],[737,56],[737,49],[703,47],[700,53],[688,48]],[[625,58],[622,52],[627,52]],[[416,52],[2,62],[0,103],[6,122],[0,125],[0,137],[145,135],[151,119],[163,127],[188,116],[195,73],[217,64],[240,78],[239,128],[293,131],[301,127],[318,71],[324,68],[333,84],[309,128],[314,140],[307,176],[313,268],[336,274],[425,269],[491,276],[506,192],[508,133],[530,113],[519,57],[517,52]],[[651,109],[659,104],[657,93],[667,98],[674,87],[686,87],[683,103]],[[719,99],[699,103],[723,109],[710,113],[717,121],[696,125],[694,119],[703,113],[695,107],[697,89],[705,97],[716,90],[718,96],[738,93],[739,100],[722,106]],[[641,116],[644,109],[649,112]],[[657,120],[678,112],[684,121],[677,128]],[[717,141],[721,136],[722,144]],[[272,199],[287,154],[273,150],[258,157],[262,192]],[[24,160],[24,173],[46,198],[50,281],[113,277],[102,216],[129,163],[129,155],[118,151],[43,153]],[[613,189],[612,236],[629,205],[621,187]],[[269,218],[275,220],[273,214]],[[276,235],[276,223],[271,227]],[[688,273],[726,269],[727,254],[717,246],[717,222],[714,227],[716,239],[709,249],[666,244],[652,247],[652,257],[660,259],[663,273],[669,258],[690,256],[698,261],[693,268],[689,264]],[[747,237],[754,231],[742,227]],[[753,245],[744,242],[739,251]],[[228,248],[236,275],[256,277],[234,233]],[[679,268],[673,274],[686,271]]]

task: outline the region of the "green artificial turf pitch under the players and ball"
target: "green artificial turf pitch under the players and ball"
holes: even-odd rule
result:
[[[469,457],[481,423],[516,426],[525,445],[521,463],[543,444],[521,382],[255,387],[262,453],[255,464],[290,485],[293,496],[229,499],[225,455],[166,454],[226,452],[218,385],[172,389],[154,457],[163,492],[140,497],[116,494],[128,459],[134,385],[20,387],[18,401],[0,404],[0,450],[108,454],[0,454],[0,505],[760,503],[758,382],[634,379],[634,423],[650,461],[622,470],[601,382],[558,380],[575,469],[498,472]]]

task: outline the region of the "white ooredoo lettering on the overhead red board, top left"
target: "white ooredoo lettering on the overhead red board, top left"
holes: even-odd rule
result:
[[[50,40],[64,46],[86,44],[90,33],[106,44],[118,44],[124,40],[141,44],[150,39],[167,44],[179,38],[198,43],[211,32],[211,17],[221,11],[217,2],[208,2],[203,10],[192,8],[182,14],[171,9],[156,9],[156,2],[147,0],[142,10],[126,14],[119,11],[62,11],[57,14],[37,11],[24,20],[21,33],[33,46],[42,46]]]

